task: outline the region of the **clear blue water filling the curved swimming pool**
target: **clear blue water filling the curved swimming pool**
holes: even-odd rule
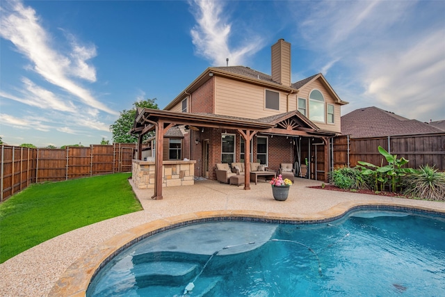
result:
[[[121,252],[87,296],[445,296],[445,218],[188,225]]]

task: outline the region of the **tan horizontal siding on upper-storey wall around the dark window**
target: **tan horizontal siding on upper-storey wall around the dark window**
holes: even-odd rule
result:
[[[280,93],[280,111],[264,107],[264,93],[266,88],[216,77],[215,80],[215,113],[219,115],[232,115],[241,118],[264,118],[269,115],[286,112],[286,93]],[[273,90],[273,89],[268,89]],[[275,91],[275,90],[273,90]],[[290,96],[289,96],[290,97]],[[296,103],[293,98],[294,110]]]

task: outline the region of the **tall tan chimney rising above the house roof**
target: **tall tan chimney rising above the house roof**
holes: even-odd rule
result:
[[[291,44],[284,39],[272,46],[272,79],[291,86]]]

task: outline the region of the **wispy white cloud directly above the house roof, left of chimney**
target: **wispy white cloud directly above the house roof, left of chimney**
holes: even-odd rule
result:
[[[212,0],[195,0],[191,3],[197,22],[191,30],[193,45],[197,54],[212,65],[225,66],[226,58],[229,58],[230,65],[243,65],[245,58],[261,49],[263,40],[258,35],[252,35],[240,47],[230,49],[232,26],[223,17],[223,4],[223,1]]]

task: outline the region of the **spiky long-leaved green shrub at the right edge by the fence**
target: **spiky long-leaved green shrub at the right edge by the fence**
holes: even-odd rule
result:
[[[434,166],[421,166],[403,177],[403,194],[426,200],[445,201],[445,172],[437,172]]]

